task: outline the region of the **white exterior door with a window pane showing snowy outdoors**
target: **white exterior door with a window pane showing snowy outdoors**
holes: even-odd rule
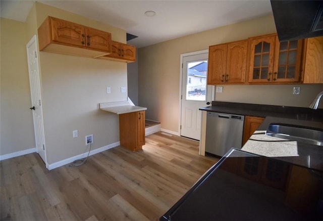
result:
[[[183,57],[180,135],[194,140],[201,136],[199,108],[209,106],[213,93],[206,84],[207,60],[207,51]]]

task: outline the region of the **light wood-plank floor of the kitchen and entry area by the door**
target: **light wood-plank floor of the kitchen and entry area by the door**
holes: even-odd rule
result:
[[[116,147],[47,170],[36,153],[1,161],[1,220],[157,220],[217,158],[157,132],[142,151]]]

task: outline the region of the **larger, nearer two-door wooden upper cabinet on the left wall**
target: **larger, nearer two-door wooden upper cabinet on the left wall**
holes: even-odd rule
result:
[[[111,53],[111,33],[50,16],[38,38],[40,51],[94,58]]]

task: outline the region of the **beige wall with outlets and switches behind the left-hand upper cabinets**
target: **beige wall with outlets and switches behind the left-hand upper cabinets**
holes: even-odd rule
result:
[[[43,4],[36,3],[36,14],[38,27],[53,16],[111,32],[118,41],[126,38],[122,29]],[[126,63],[47,52],[39,57],[48,164],[86,152],[86,135],[93,134],[92,150],[118,142],[118,116],[98,110],[98,103],[127,100],[120,92],[127,86]],[[78,138],[73,138],[76,129]]]

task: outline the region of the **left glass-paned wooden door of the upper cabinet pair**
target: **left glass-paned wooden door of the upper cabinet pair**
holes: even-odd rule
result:
[[[249,38],[249,82],[272,81],[276,34]]]

